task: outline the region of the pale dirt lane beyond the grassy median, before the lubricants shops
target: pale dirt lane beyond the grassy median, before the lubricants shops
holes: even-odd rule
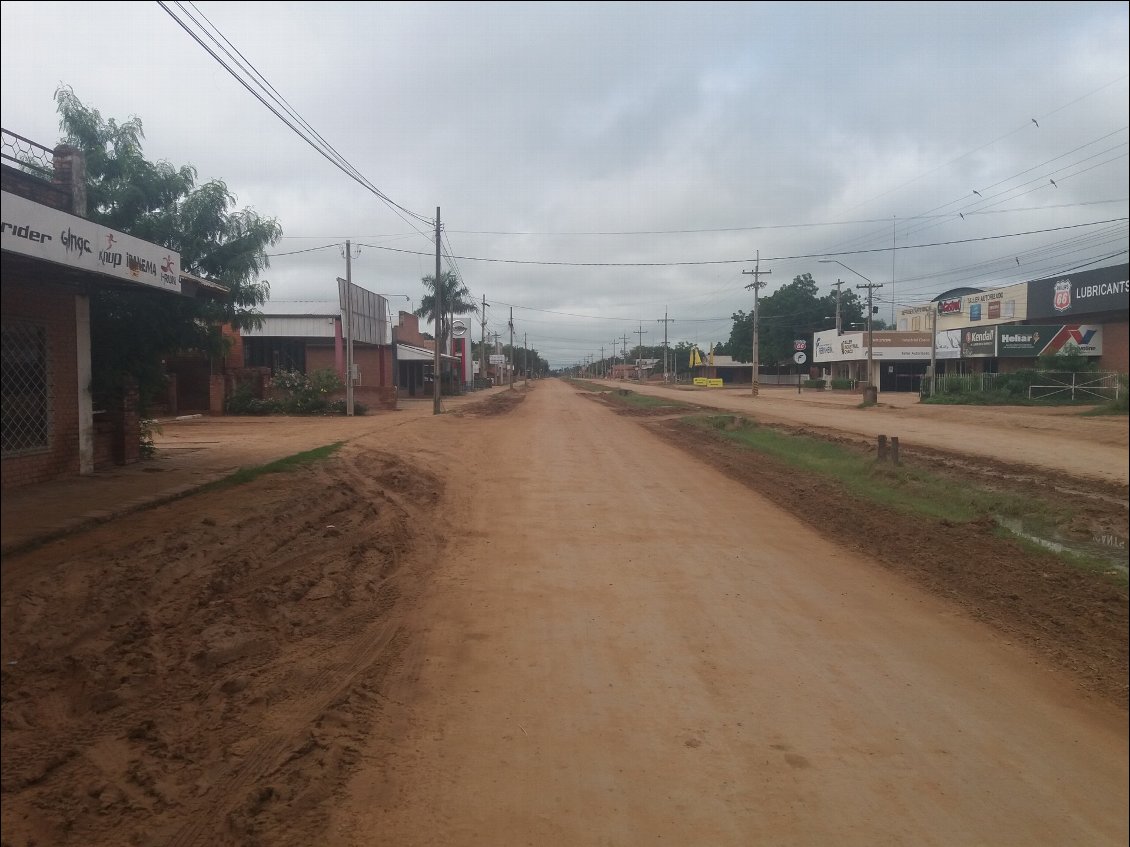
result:
[[[939,449],[992,462],[1027,465],[1071,477],[1125,486],[1130,482],[1130,428],[1125,417],[1080,417],[1079,409],[1035,407],[945,407],[918,403],[918,395],[883,394],[859,409],[858,394],[763,387],[664,387],[624,383],[631,391],[738,411],[765,422],[854,433],[869,442],[898,436],[909,449]]]

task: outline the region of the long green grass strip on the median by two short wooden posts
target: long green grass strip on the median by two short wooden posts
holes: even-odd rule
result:
[[[792,468],[834,480],[846,492],[910,515],[966,523],[984,515],[1024,517],[1032,523],[1058,523],[1042,501],[1022,495],[989,491],[910,465],[878,464],[871,456],[840,444],[760,427],[740,416],[715,414],[686,419],[721,433],[729,440],[764,453]]]

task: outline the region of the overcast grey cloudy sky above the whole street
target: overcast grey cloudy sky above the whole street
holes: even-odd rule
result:
[[[862,276],[887,320],[955,286],[1127,261],[1124,2],[168,7],[210,21],[388,198],[441,207],[487,332],[513,307],[554,366],[641,328],[657,343],[664,313],[672,343],[725,340],[758,252],[764,292]],[[332,297],[348,238],[356,282],[419,305],[427,225],[160,5],[6,0],[0,34],[5,129],[54,145],[69,85],[140,117],[150,158],[279,219],[272,300]]]

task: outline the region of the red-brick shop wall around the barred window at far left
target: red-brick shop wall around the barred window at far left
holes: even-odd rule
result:
[[[46,330],[52,403],[50,446],[42,453],[3,460],[3,488],[42,482],[79,472],[78,374],[75,292],[47,279],[29,280],[5,269],[3,317],[26,320]]]

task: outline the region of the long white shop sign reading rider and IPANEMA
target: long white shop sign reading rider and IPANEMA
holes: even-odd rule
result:
[[[0,246],[92,273],[181,292],[181,254],[132,235],[2,192]]]

